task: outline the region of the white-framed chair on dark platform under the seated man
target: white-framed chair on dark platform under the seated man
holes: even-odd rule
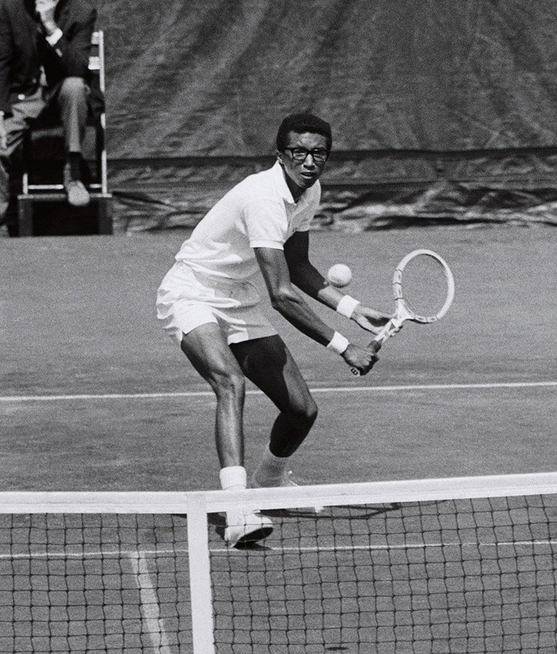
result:
[[[93,32],[91,38],[91,55],[89,56],[89,70],[97,76],[99,88],[104,95],[104,32],[97,30]],[[90,118],[88,125],[95,128],[95,171],[91,175],[91,180],[86,186],[91,196],[91,205],[95,210],[97,219],[97,229],[99,234],[112,233],[112,215],[111,199],[112,194],[108,190],[107,180],[107,150],[106,150],[106,130],[107,118],[104,110],[97,118]],[[60,183],[40,183],[32,180],[35,176],[33,171],[33,129],[41,130],[43,133],[59,133],[60,126],[47,124],[41,125],[40,120],[37,125],[29,130],[23,141],[22,148],[22,193],[17,196],[17,222],[19,226],[19,236],[33,235],[33,205],[36,202],[64,202],[66,194],[64,185]],[[55,131],[54,131],[55,130]],[[89,171],[91,172],[91,171]],[[77,209],[78,212],[88,210],[86,208]]]

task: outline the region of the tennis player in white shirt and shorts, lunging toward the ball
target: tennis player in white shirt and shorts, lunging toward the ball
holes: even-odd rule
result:
[[[157,295],[157,316],[217,396],[216,440],[224,490],[246,488],[243,410],[246,377],[278,408],[251,485],[288,484],[290,456],[317,416],[299,368],[260,309],[253,280],[262,274],[271,304],[300,332],[362,374],[377,355],[350,343],[308,306],[297,289],[377,333],[389,316],[331,286],[310,263],[309,226],[319,178],[331,151],[329,123],[311,114],[283,120],[276,162],[231,189],[198,223]],[[225,540],[240,547],[268,536],[259,513],[227,513]]]

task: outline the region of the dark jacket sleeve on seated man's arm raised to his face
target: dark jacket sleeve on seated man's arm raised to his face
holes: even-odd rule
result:
[[[65,77],[88,77],[91,36],[96,19],[97,12],[94,8],[81,11],[61,28],[62,36],[54,46],[47,45],[58,56],[58,65],[63,69]]]

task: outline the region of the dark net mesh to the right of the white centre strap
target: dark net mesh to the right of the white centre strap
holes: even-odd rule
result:
[[[219,651],[556,651],[555,497],[327,514],[213,552]]]

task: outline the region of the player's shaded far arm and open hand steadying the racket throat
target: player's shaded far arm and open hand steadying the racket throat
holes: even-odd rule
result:
[[[309,233],[292,234],[284,245],[284,256],[290,281],[310,297],[336,311],[345,294],[330,286],[309,260]],[[377,334],[392,317],[359,303],[354,306],[350,319],[357,322],[362,329]]]

